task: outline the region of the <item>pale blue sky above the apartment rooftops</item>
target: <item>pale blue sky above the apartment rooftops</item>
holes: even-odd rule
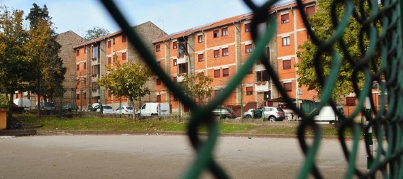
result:
[[[264,1],[253,0],[259,5]],[[95,26],[109,33],[121,30],[98,0],[0,0],[0,6],[9,11],[23,10],[24,16],[33,3],[48,7],[56,33],[74,31],[84,37]],[[132,26],[151,21],[168,34],[250,12],[242,0],[115,0],[115,3]]]

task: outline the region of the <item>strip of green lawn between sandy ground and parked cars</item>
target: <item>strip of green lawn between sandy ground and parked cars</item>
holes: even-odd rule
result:
[[[64,118],[59,116],[42,116],[40,119],[35,114],[13,114],[12,122],[21,125],[41,125],[43,130],[94,130],[94,131],[174,131],[184,132],[187,129],[186,122],[138,120],[107,117],[77,117]],[[267,122],[264,125],[257,124],[219,124],[223,134],[270,134],[270,135],[296,135],[297,121]],[[334,124],[321,126],[322,136],[337,136]],[[206,132],[206,126],[199,128],[200,132]],[[305,131],[306,136],[313,136],[311,129]],[[351,136],[346,131],[346,136]]]

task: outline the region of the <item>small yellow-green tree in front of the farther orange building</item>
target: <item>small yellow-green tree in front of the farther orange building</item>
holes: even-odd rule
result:
[[[134,100],[150,94],[150,89],[145,87],[145,82],[153,73],[142,63],[120,64],[116,62],[114,66],[109,65],[107,70],[109,72],[106,77],[101,77],[96,82],[99,86],[109,89],[117,97],[127,97],[134,104]],[[134,110],[133,121],[136,121]]]

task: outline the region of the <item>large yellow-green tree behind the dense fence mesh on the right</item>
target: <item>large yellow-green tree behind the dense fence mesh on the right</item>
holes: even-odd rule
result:
[[[333,26],[331,21],[331,1],[329,0],[319,0],[317,1],[317,11],[316,13],[309,16],[309,23],[311,27],[314,29],[314,33],[320,40],[329,39],[336,27]],[[358,1],[355,1],[354,4],[358,4]],[[339,4],[340,5],[340,4]],[[337,6],[337,19],[341,19],[344,15],[344,6]],[[368,9],[368,4],[365,6]],[[361,14],[362,15],[362,14]],[[366,15],[368,16],[368,14]],[[369,40],[368,36],[363,36],[362,43],[360,44],[360,25],[357,17],[354,16],[350,18],[348,27],[345,29],[343,33],[343,40],[345,42],[345,47],[348,49],[350,53],[350,59],[348,59],[345,54],[341,53],[343,50],[341,48],[341,43],[336,43],[333,45],[333,50],[341,54],[341,69],[338,73],[338,78],[336,80],[336,87],[333,89],[333,99],[340,99],[343,96],[346,96],[350,92],[353,92],[353,63],[357,63],[363,57],[362,47],[368,46]],[[379,29],[379,28],[378,28]],[[366,34],[365,34],[366,35]],[[360,46],[361,45],[361,46]],[[317,61],[314,60],[318,47],[312,43],[311,39],[307,40],[303,45],[299,46],[299,52],[297,52],[297,57],[300,59],[299,63],[295,64],[297,67],[297,75],[298,83],[301,87],[305,85],[309,90],[316,90],[316,92],[321,93],[322,84],[317,80],[317,75],[315,71],[315,65],[317,65]],[[374,54],[375,66],[379,65],[379,53]],[[329,75],[331,70],[331,52],[326,51],[320,55],[321,64],[321,72],[326,77]],[[358,85],[362,85],[365,80],[365,76],[363,72],[357,73],[357,79],[359,80]]]

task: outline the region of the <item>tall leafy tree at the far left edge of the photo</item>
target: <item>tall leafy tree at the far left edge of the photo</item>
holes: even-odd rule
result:
[[[33,58],[29,53],[29,32],[23,28],[23,11],[0,6],[0,85],[11,94],[26,91],[33,80]]]

